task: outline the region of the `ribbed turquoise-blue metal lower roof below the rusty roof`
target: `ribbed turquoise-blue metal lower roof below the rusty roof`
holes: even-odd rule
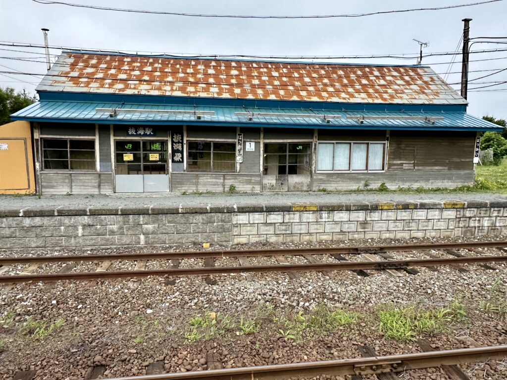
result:
[[[110,112],[97,112],[97,108],[121,108],[122,112],[111,117]],[[184,114],[156,112],[126,112],[125,109],[188,110]],[[197,120],[194,111],[214,111],[214,115],[203,115]],[[259,117],[248,121],[235,112],[298,113],[306,115],[341,116],[327,123],[322,119],[307,117]],[[423,120],[364,120],[359,124],[347,116],[382,117],[429,117],[444,118],[433,125]],[[501,131],[502,127],[464,112],[414,112],[414,111],[316,111],[312,109],[280,109],[253,107],[189,106],[161,104],[123,104],[81,101],[39,101],[11,116],[12,120],[39,122],[75,122],[98,124],[186,124],[186,125],[230,125],[245,127],[318,128],[318,129],[389,129],[389,130],[443,130],[443,131]]]

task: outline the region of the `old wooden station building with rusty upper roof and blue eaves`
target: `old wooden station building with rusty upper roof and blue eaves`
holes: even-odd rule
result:
[[[69,51],[37,92],[42,194],[457,187],[501,130],[420,65]]]

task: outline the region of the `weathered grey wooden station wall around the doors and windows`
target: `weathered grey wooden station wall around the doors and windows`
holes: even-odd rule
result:
[[[124,128],[123,128],[124,129]],[[121,133],[123,133],[121,129]],[[162,127],[163,129],[163,127]],[[118,129],[119,131],[119,129]],[[116,131],[115,134],[120,132]],[[230,139],[243,134],[243,143],[255,142],[255,150],[243,147],[243,162],[237,164],[236,173],[170,173],[171,192],[228,192],[234,185],[237,192],[260,192],[263,144],[269,141],[299,142],[319,141],[388,141],[385,172],[336,172],[317,173],[316,144],[313,146],[312,191],[325,188],[329,191],[378,187],[385,183],[397,187],[458,187],[474,182],[475,132],[431,131],[355,131],[275,128],[212,128],[187,127],[187,138]],[[114,173],[112,163],[110,125],[35,124],[35,139],[44,136],[96,137],[98,160],[96,172],[55,171],[39,172],[39,183],[44,194],[113,193]],[[162,136],[161,136],[162,137]],[[38,149],[40,151],[40,149]],[[40,153],[35,154],[40,165]]]

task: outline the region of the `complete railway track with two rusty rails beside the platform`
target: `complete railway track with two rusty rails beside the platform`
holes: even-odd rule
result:
[[[296,278],[298,272],[321,272],[324,275],[329,275],[331,271],[354,271],[358,275],[368,276],[366,272],[368,270],[388,271],[390,274],[398,276],[403,275],[400,271],[417,274],[414,268],[426,267],[436,271],[436,267],[443,265],[452,265],[461,271],[466,271],[460,267],[463,264],[479,264],[485,269],[495,269],[488,263],[507,261],[506,247],[506,241],[499,241],[377,247],[0,257],[0,283],[268,272],[287,273],[291,278]],[[484,254],[481,249],[495,250],[497,254]],[[405,253],[410,252],[418,252],[423,258],[407,259],[403,257]],[[435,252],[440,252],[440,256]],[[470,253],[473,253],[473,256],[470,256]],[[393,257],[391,254],[402,257]],[[346,258],[344,255],[352,257]],[[357,261],[357,257],[362,260]],[[235,258],[237,259],[235,263],[238,265],[215,266],[215,260],[223,258]],[[275,260],[277,264],[252,265],[249,258],[271,259]],[[299,262],[287,260],[294,261],[295,258],[298,258]],[[180,267],[182,260],[189,259],[193,262],[203,259],[204,266]],[[122,265],[117,264],[125,262],[135,262],[135,268],[132,270],[111,270],[115,267],[121,268]],[[147,269],[149,262],[156,262],[158,268]],[[83,263],[96,264],[97,268],[90,271],[88,265],[88,271],[77,271]]]

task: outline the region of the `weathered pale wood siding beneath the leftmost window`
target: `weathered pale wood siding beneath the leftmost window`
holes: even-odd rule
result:
[[[42,194],[109,194],[113,193],[113,174],[41,172]]]

